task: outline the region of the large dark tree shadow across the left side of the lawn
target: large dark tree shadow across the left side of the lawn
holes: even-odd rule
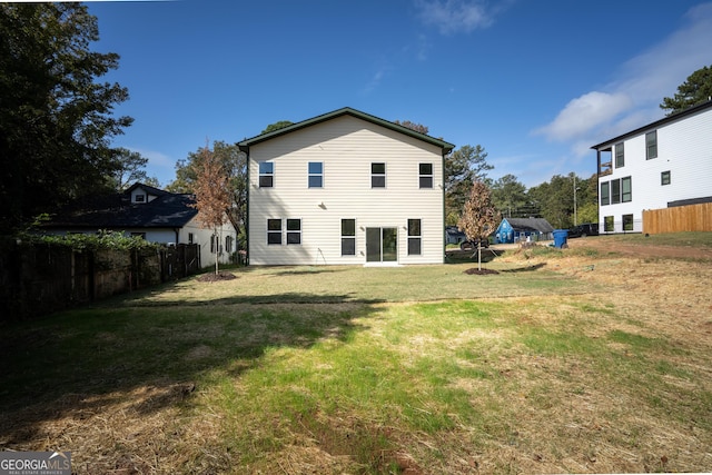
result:
[[[365,329],[354,319],[370,315],[375,303],[285,293],[83,308],[4,325],[0,448],[34,447],[47,423],[119,402],[141,414],[186,404],[211,374],[239,377],[268,348],[347,342]]]

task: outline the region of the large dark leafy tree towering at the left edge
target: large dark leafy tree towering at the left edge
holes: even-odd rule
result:
[[[0,222],[9,231],[82,195],[108,191],[112,117],[126,88],[99,82],[116,53],[89,49],[96,17],[80,3],[0,3]]]

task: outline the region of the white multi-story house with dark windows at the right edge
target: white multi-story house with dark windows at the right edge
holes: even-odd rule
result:
[[[712,202],[712,101],[592,149],[602,234],[642,232],[643,210]]]

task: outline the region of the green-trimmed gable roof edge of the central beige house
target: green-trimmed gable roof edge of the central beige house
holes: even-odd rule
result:
[[[444,140],[436,139],[436,138],[431,137],[428,135],[417,132],[417,131],[415,131],[413,129],[409,129],[407,127],[400,126],[398,123],[390,122],[390,121],[385,120],[385,119],[380,119],[378,117],[368,115],[366,112],[362,112],[359,110],[352,109],[350,107],[345,107],[345,108],[335,110],[333,112],[327,112],[327,113],[324,113],[322,116],[314,117],[312,119],[303,120],[301,122],[297,122],[297,123],[293,123],[293,125],[287,126],[287,127],[283,127],[281,129],[273,130],[270,132],[263,133],[263,135],[259,135],[257,137],[253,137],[251,139],[243,140],[241,142],[238,144],[238,147],[244,152],[248,152],[249,151],[249,147],[251,147],[254,145],[257,145],[257,144],[274,139],[276,137],[280,137],[280,136],[297,131],[297,130],[301,130],[304,128],[312,127],[312,126],[315,126],[317,123],[325,122],[327,120],[332,120],[332,119],[335,119],[335,118],[342,117],[342,116],[356,117],[358,119],[366,120],[368,122],[385,127],[387,129],[395,130],[396,132],[400,132],[403,135],[406,135],[406,136],[409,136],[409,137],[414,137],[414,138],[416,138],[418,140],[423,140],[423,141],[428,142],[431,145],[439,147],[443,150],[443,155],[448,154],[453,148],[455,148],[455,146],[453,144],[448,144],[448,142],[444,141]]]

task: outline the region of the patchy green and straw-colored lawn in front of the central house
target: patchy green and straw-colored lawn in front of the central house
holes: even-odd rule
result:
[[[0,448],[79,473],[711,469],[712,355],[558,253],[239,269],[4,325]]]

